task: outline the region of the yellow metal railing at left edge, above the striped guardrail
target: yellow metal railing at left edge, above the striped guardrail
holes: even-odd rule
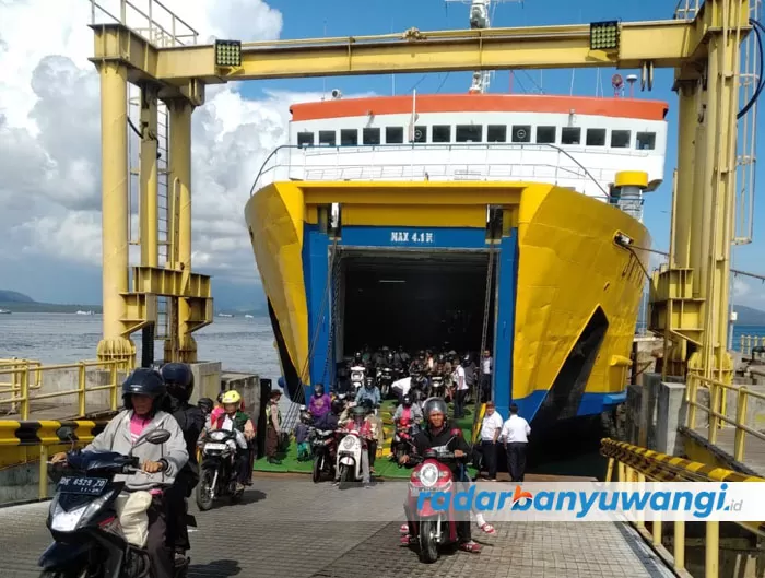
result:
[[[79,416],[85,416],[89,413],[87,393],[96,391],[108,391],[109,410],[116,411],[120,387],[118,371],[130,371],[133,368],[132,365],[133,361],[131,358],[105,362],[84,361],[60,365],[43,365],[39,362],[30,359],[2,359],[0,361],[0,414],[4,414],[4,416],[15,414],[14,416],[21,420],[28,420],[32,402],[76,396],[78,414]],[[109,382],[102,386],[89,386],[89,369],[109,371]],[[70,377],[66,375],[69,371],[76,371],[75,377],[71,376],[72,381],[76,384],[75,388],[44,393],[46,386],[45,375],[50,375],[52,371],[62,374],[59,379]],[[9,394],[10,397],[5,397]]]

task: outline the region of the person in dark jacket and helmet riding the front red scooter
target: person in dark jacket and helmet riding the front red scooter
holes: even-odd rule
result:
[[[470,446],[468,441],[462,436],[452,436],[449,429],[446,402],[440,398],[429,398],[425,401],[423,414],[426,420],[425,428],[414,436],[414,448],[417,456],[424,457],[428,449],[446,446],[447,451],[454,451],[455,458],[463,462],[469,461]],[[404,453],[401,456],[399,463],[403,464],[408,461],[410,461],[410,457],[408,453]],[[462,479],[460,464],[447,462],[445,465],[451,470],[455,482],[459,483],[458,481]],[[407,514],[409,519],[409,512]],[[473,542],[471,538],[470,520],[458,520],[456,524],[460,550],[464,550],[466,552],[480,552],[481,546]],[[401,531],[408,532],[402,536],[401,543],[403,545],[410,545],[413,540],[409,524],[402,526]]]

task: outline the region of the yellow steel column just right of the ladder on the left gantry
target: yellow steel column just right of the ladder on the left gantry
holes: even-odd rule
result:
[[[184,273],[183,286],[188,287],[191,273],[191,113],[193,105],[176,99],[168,103],[170,111],[169,152],[170,176],[178,179],[178,264]],[[197,342],[190,332],[191,310],[187,300],[177,299],[178,361],[197,361]]]

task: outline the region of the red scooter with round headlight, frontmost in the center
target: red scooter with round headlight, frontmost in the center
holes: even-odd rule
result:
[[[462,432],[454,428],[451,439],[460,437]],[[445,545],[457,544],[457,516],[451,500],[449,508],[434,508],[431,497],[420,498],[421,493],[452,491],[454,475],[444,461],[463,460],[457,458],[454,452],[446,451],[445,444],[440,448],[432,448],[423,458],[422,463],[412,471],[409,480],[409,494],[404,510],[409,521],[409,535],[420,545],[420,559],[432,564],[438,559],[438,548]],[[415,458],[416,459],[416,458]]]

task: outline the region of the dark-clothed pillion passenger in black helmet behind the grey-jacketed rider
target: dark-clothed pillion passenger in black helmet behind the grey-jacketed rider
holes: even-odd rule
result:
[[[199,462],[197,461],[197,440],[204,428],[205,416],[202,410],[191,405],[189,399],[193,392],[193,374],[184,363],[168,363],[162,367],[162,377],[167,384],[167,398],[164,411],[173,415],[184,433],[189,461],[175,479],[175,484],[166,493],[167,500],[167,546],[175,552],[176,561],[185,559],[185,552],[191,548],[189,543],[186,515],[186,498],[199,482]]]

